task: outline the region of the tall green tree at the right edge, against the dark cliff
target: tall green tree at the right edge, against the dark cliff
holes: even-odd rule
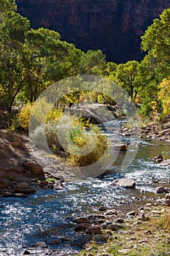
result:
[[[142,36],[142,50],[147,55],[138,67],[136,83],[142,97],[142,114],[152,114],[152,102],[159,106],[159,84],[170,74],[170,8],[153,20]]]

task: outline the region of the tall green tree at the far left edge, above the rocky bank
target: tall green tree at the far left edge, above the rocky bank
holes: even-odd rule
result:
[[[15,97],[28,78],[29,50],[24,45],[30,23],[15,12],[13,1],[1,3],[0,26],[0,100],[12,108]],[[5,8],[8,8],[5,9]],[[4,8],[4,9],[3,9]],[[13,8],[13,10],[11,10]]]

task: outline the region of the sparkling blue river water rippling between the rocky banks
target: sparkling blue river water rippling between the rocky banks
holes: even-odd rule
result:
[[[111,127],[112,123],[107,125]],[[129,140],[114,138],[114,132],[109,132],[109,136],[119,142]],[[122,152],[105,176],[68,182],[65,189],[58,191],[37,189],[27,198],[1,197],[0,255],[23,255],[36,241],[45,241],[49,245],[54,238],[61,244],[50,245],[50,249],[58,249],[58,255],[76,255],[88,237],[74,232],[72,219],[90,214],[98,206],[116,207],[144,195],[154,196],[156,184],[153,181],[170,178],[169,167],[162,167],[152,160],[158,154],[170,159],[169,143],[143,138],[136,158],[125,170],[120,169],[125,157],[125,152]],[[116,178],[124,177],[134,178],[136,189],[109,185]],[[45,255],[45,252],[45,249],[32,249],[31,255]],[[46,252],[46,255],[50,254]]]

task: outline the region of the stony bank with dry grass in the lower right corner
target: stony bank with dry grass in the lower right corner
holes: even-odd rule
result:
[[[165,200],[152,200],[135,211],[130,209],[127,214],[112,212],[107,224],[103,224],[107,243],[98,244],[93,238],[79,256],[169,255],[170,210]]]

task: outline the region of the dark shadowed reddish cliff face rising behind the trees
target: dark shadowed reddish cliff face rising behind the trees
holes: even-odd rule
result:
[[[16,0],[31,26],[54,29],[82,50],[100,48],[117,63],[142,59],[140,37],[169,0]]]

